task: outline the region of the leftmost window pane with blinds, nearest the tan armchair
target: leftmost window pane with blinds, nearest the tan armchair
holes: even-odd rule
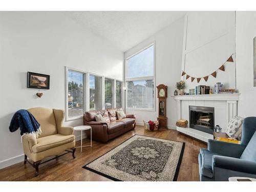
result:
[[[81,117],[84,112],[84,73],[68,70],[68,119]]]

